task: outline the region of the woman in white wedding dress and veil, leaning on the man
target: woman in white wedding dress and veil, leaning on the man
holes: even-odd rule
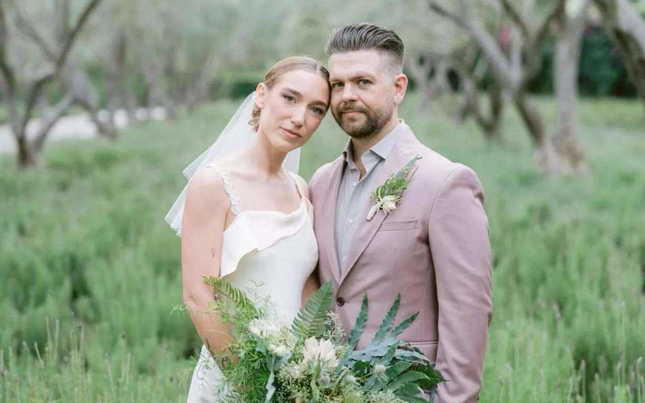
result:
[[[297,174],[300,148],[330,102],[328,71],[309,57],[274,64],[224,131],[186,170],[188,185],[166,215],[181,236],[183,299],[203,341],[188,403],[219,402],[224,386],[210,352],[226,353],[230,336],[208,313],[205,276],[225,276],[268,297],[292,320],[319,286],[312,205]]]

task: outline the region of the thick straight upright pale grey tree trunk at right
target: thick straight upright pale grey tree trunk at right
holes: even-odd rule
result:
[[[588,173],[584,148],[576,130],[580,46],[587,8],[588,3],[585,3],[579,14],[573,17],[562,10],[556,20],[553,83],[557,112],[553,147],[559,157],[557,169],[560,173]]]

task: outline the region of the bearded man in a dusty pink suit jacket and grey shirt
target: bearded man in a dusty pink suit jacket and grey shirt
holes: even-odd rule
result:
[[[421,144],[399,119],[408,82],[397,34],[366,23],[343,26],[326,52],[331,112],[350,140],[310,183],[321,283],[333,280],[335,311],[346,329],[367,293],[359,348],[401,293],[397,322],[419,311],[401,339],[447,379],[434,402],[476,402],[492,311],[481,183],[467,166]],[[383,203],[389,213],[381,208],[368,219],[372,191],[417,156],[401,200]]]

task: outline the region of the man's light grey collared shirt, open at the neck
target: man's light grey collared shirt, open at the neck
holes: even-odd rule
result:
[[[388,154],[392,151],[394,144],[397,143],[401,132],[406,127],[404,121],[399,120],[399,126],[361,155],[361,161],[366,171],[365,176],[362,178],[353,161],[351,141],[348,141],[342,152],[345,163],[342,168],[341,183],[336,201],[336,220],[334,222],[333,237],[341,273],[344,270],[344,265],[348,263],[346,261],[347,253],[350,249],[354,229],[359,220],[366,219],[368,210],[365,210],[365,206],[372,197],[372,191],[380,185],[380,183],[376,182],[379,172],[382,170],[382,166]]]

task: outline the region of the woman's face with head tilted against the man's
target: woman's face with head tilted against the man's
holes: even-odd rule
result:
[[[261,83],[257,88],[257,105],[262,110],[258,132],[283,152],[295,150],[323,121],[329,98],[328,82],[308,70],[286,72],[271,88]]]

